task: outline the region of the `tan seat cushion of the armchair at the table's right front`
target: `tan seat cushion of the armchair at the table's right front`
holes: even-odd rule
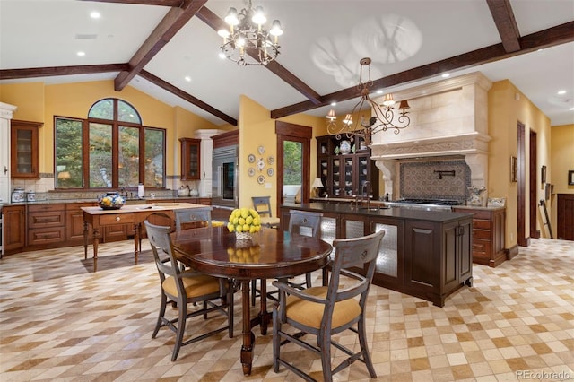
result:
[[[312,296],[326,298],[327,287],[311,287],[303,291]],[[326,305],[308,300],[301,300],[296,296],[287,297],[285,313],[288,318],[305,326],[319,329],[323,319],[323,311]],[[355,317],[361,315],[361,305],[356,299],[338,301],[333,310],[331,327],[347,324]]]

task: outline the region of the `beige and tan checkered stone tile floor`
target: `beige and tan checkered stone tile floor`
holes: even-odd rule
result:
[[[131,251],[130,241],[100,245],[97,273],[83,247],[4,256],[0,380],[300,380],[284,368],[274,373],[271,330],[262,336],[258,328],[253,372],[243,376],[239,293],[234,338],[223,332],[185,346],[171,362],[173,334],[162,329],[151,338],[155,266],[149,256],[134,265]],[[192,319],[187,330],[204,325],[212,324]],[[535,239],[497,268],[474,265],[474,285],[443,308],[373,285],[368,331],[380,381],[574,380],[574,242]],[[320,379],[317,357],[295,347],[290,356]],[[335,380],[369,377],[355,362]]]

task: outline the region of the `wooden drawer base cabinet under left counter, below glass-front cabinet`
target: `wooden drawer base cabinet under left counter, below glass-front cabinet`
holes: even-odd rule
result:
[[[65,204],[28,205],[26,247],[58,247],[65,242]]]

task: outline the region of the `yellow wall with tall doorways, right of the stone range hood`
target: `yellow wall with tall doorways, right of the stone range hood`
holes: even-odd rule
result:
[[[490,197],[507,198],[507,224],[506,224],[506,245],[514,247],[517,245],[517,183],[510,182],[510,157],[517,157],[517,125],[522,123],[526,130],[526,185],[530,181],[530,144],[529,131],[534,131],[537,135],[537,169],[533,173],[538,177],[538,187],[536,204],[544,198],[544,187],[540,184],[540,168],[545,165],[547,174],[552,171],[550,159],[550,120],[535,107],[535,105],[522,94],[516,86],[508,80],[494,82],[488,93],[489,105],[489,135],[492,140],[489,144],[489,183],[488,192]],[[548,178],[547,178],[547,181]],[[529,237],[529,195],[526,192],[526,221],[525,232]],[[543,230],[544,221],[539,208],[537,210],[537,229],[541,230],[543,237],[548,237]]]

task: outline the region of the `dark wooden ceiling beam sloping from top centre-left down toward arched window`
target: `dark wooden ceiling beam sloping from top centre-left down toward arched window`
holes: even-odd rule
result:
[[[130,69],[121,72],[114,80],[114,89],[122,91],[127,84],[147,65],[170,39],[194,17],[207,0],[186,0],[181,7],[171,8],[161,22],[152,31],[152,34],[137,49],[135,55],[129,60]]]

